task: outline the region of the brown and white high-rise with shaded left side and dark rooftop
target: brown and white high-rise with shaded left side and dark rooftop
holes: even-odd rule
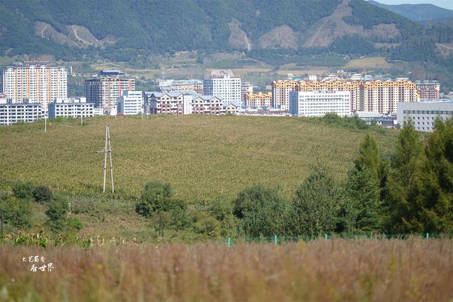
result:
[[[85,80],[86,101],[94,103],[96,108],[103,108],[105,112],[116,112],[116,101],[124,90],[134,91],[135,80],[120,76]]]

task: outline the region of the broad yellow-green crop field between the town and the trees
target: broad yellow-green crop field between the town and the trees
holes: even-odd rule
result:
[[[110,124],[115,197],[139,196],[144,183],[170,182],[176,196],[202,203],[244,187],[279,187],[292,197],[316,161],[345,178],[365,131],[292,117],[96,117],[0,128],[0,190],[18,180],[55,191],[102,192],[105,124]],[[390,151],[396,132],[373,132]]]

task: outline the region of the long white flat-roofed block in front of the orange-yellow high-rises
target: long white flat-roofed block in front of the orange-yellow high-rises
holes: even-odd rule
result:
[[[326,113],[349,116],[349,91],[292,91],[289,93],[289,113],[298,117],[323,117]]]

